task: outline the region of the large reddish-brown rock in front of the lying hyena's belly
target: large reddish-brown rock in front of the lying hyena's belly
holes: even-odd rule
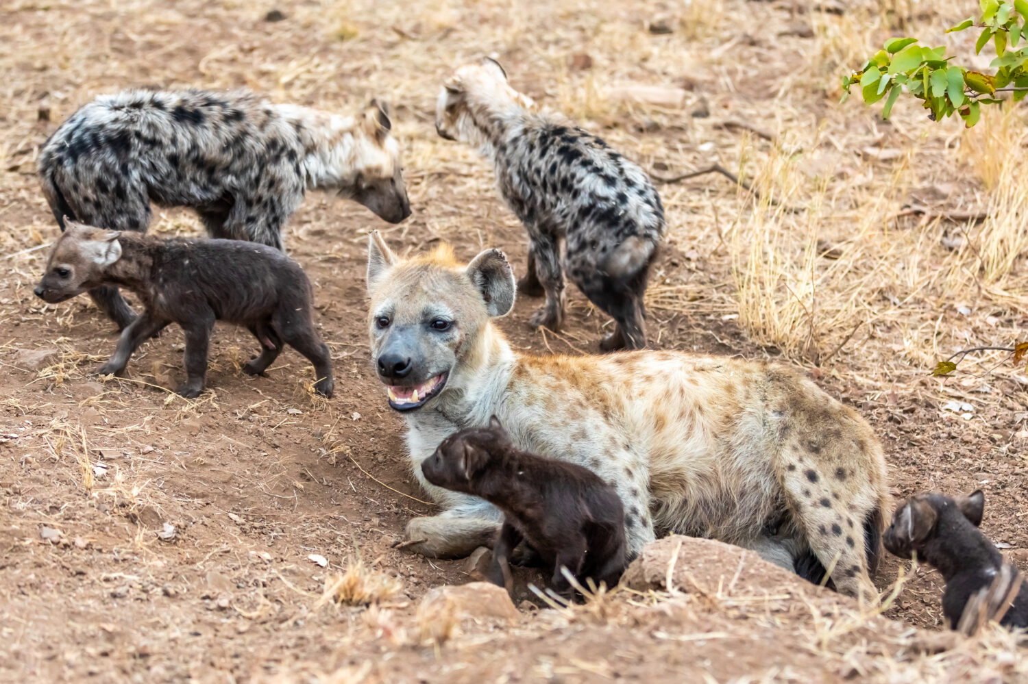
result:
[[[669,571],[671,586],[690,593],[738,596],[827,592],[768,563],[755,552],[715,539],[677,534],[644,546],[625,570],[621,583],[639,592],[664,590]]]

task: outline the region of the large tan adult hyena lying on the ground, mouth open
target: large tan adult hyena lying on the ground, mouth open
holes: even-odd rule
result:
[[[488,544],[500,512],[429,484],[444,438],[495,415],[519,449],[588,467],[624,503],[628,553],[655,530],[722,539],[787,567],[832,568],[871,593],[887,509],[885,462],[852,409],[796,370],[674,351],[515,352],[490,318],[514,305],[504,254],[368,255],[369,332],[390,406],[403,412],[414,476],[444,508],[410,521],[410,547],[454,557]],[[809,562],[809,555],[817,563]]]

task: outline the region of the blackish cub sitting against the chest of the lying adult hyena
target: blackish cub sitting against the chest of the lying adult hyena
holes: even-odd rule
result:
[[[613,586],[624,570],[625,514],[614,487],[581,465],[545,458],[514,446],[495,416],[488,427],[451,434],[421,462],[426,480],[481,497],[504,512],[492,549],[490,581],[511,588],[511,552],[524,540],[553,568],[553,588],[580,581]]]

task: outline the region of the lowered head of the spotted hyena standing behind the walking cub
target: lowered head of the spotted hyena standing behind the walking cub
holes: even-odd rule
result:
[[[392,127],[389,105],[372,100],[361,112],[354,135],[353,183],[344,185],[339,194],[390,223],[400,223],[410,216],[410,200]]]

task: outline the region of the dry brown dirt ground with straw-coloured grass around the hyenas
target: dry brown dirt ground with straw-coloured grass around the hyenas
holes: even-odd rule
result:
[[[890,35],[972,55],[966,37],[943,31],[974,5],[2,0],[0,679],[1023,678],[1003,635],[940,654],[912,646],[919,633],[905,624],[940,629],[942,583],[906,564],[885,606],[902,623],[849,604],[822,613],[802,596],[752,598],[774,586],[735,582],[732,598],[714,582],[571,610],[524,604],[514,625],[445,640],[417,619],[417,602],[468,581],[465,564],[393,547],[432,506],[366,343],[368,230],[401,252],[446,240],[464,258],[499,246],[523,264],[523,229],[491,170],[432,121],[447,71],[494,52],[516,87],[654,174],[719,161],[762,192],[755,201],[720,176],[662,186],[670,237],[649,295],[654,346],[802,365],[875,426],[893,495],[984,489],[983,529],[1026,567],[1025,369],[983,352],[952,378],[927,377],[957,349],[1025,338],[1028,192],[1023,165],[1003,161],[1026,157],[1025,108],[964,131],[909,102],[891,122],[838,104],[839,75]],[[94,94],[130,85],[249,86],[338,111],[393,103],[411,218],[388,226],[314,193],[287,236],[315,283],[335,398],[309,393],[311,370],[292,351],[269,377],[247,377],[252,339],[221,326],[196,402],[167,389],[182,378],[177,329],[144,346],[128,379],[103,382],[89,371],[111,352],[112,326],[85,298],[32,296],[58,235],[34,178],[38,149]],[[197,227],[163,211],[152,229]],[[500,324],[517,347],[596,351],[604,317],[577,292],[561,335],[527,328],[536,306],[519,301]],[[399,592],[370,608],[321,602],[358,559],[362,577],[382,573]],[[876,582],[889,587],[900,570],[885,563]]]

